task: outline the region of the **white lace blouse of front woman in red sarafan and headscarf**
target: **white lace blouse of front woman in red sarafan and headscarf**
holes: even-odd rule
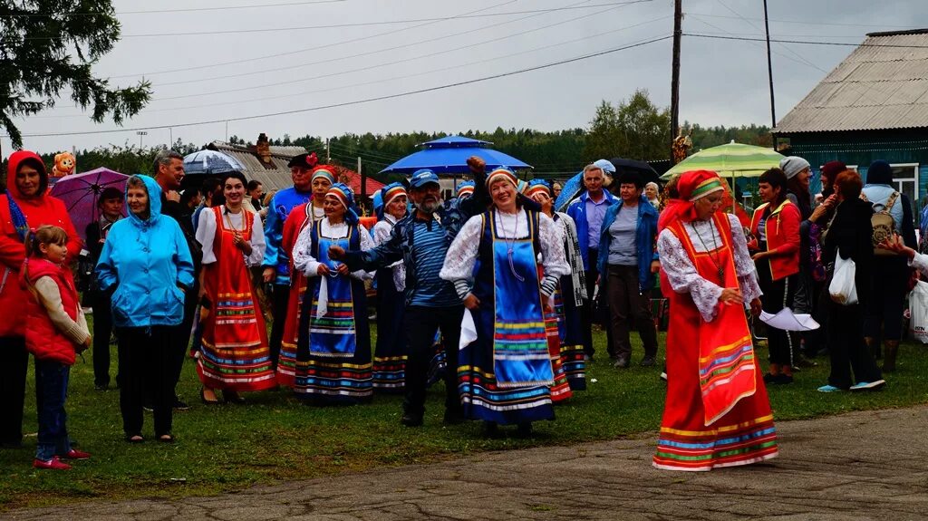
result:
[[[751,260],[751,254],[748,253],[747,241],[744,238],[744,232],[741,228],[741,222],[734,215],[728,215],[728,221],[731,222],[732,245],[734,246],[735,256],[735,273],[738,275],[738,286],[741,287],[741,296],[744,303],[748,304],[752,300],[762,295],[760,286],[757,285],[757,273],[754,269],[754,261]],[[722,237],[719,230],[711,221],[693,221],[683,226],[687,234],[690,235],[690,242],[697,252],[708,251],[713,245],[722,244]],[[696,231],[699,231],[697,235]],[[702,240],[700,237],[702,236]],[[712,237],[710,239],[710,237]],[[702,245],[705,243],[706,247]],[[667,279],[670,286],[677,293],[689,293],[696,308],[702,314],[702,319],[711,322],[715,318],[718,307],[718,298],[722,295],[722,287],[716,286],[696,271],[696,267],[690,262],[690,257],[686,250],[670,230],[664,230],[657,238],[657,250],[661,257],[661,268],[667,273]]]

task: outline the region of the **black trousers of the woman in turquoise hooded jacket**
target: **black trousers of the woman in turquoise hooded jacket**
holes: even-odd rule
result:
[[[150,393],[155,435],[170,434],[174,405],[177,326],[125,327],[116,330],[122,349],[119,407],[126,436],[142,432],[142,403]]]

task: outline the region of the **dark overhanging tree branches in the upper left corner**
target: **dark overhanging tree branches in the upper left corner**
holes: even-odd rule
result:
[[[110,0],[0,0],[0,124],[13,146],[22,146],[13,118],[54,107],[66,87],[96,122],[145,107],[150,83],[114,88],[91,71],[119,36]]]

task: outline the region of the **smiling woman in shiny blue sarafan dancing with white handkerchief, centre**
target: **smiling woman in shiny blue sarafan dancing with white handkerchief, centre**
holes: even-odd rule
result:
[[[470,313],[461,330],[458,390],[464,413],[483,420],[488,433],[515,424],[528,434],[532,422],[554,419],[544,313],[570,266],[555,222],[522,208],[513,172],[496,169],[486,185],[493,206],[464,224],[440,273]]]

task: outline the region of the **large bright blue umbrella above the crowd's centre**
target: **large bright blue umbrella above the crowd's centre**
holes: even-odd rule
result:
[[[419,169],[427,168],[435,173],[467,173],[470,168],[467,166],[467,159],[470,156],[478,156],[486,161],[487,169],[496,167],[507,167],[512,170],[532,168],[531,165],[523,163],[508,154],[489,148],[493,145],[488,141],[470,139],[460,135],[451,135],[423,143],[424,146],[419,152],[415,152],[400,159],[380,171],[380,173],[412,173]]]

